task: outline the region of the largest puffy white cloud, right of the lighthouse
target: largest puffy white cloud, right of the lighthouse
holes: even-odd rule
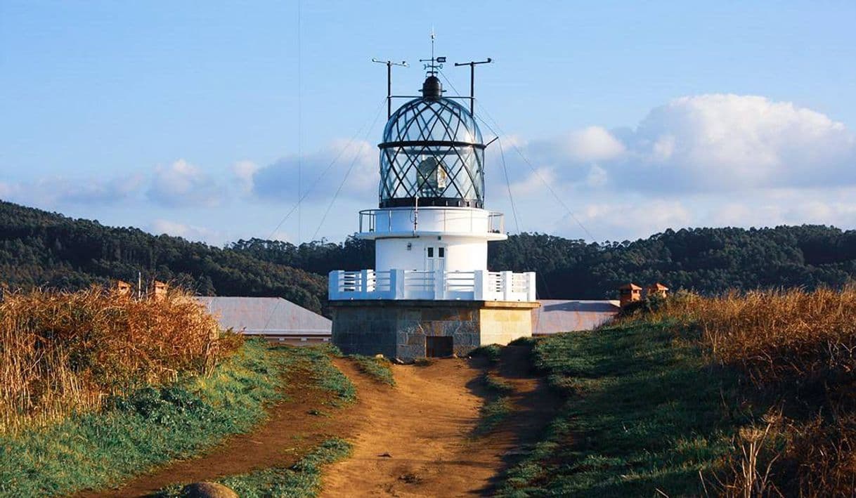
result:
[[[856,135],[789,102],[711,94],[651,110],[616,164],[635,190],[733,191],[856,182]]]

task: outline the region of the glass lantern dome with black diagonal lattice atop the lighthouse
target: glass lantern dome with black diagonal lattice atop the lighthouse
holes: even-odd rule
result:
[[[484,142],[473,115],[443,98],[437,76],[383,128],[380,207],[484,207]]]

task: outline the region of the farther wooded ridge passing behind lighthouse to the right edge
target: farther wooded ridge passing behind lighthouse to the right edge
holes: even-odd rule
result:
[[[254,258],[326,275],[371,268],[372,245],[294,246],[240,240],[230,246]],[[856,231],[809,226],[667,230],[635,242],[586,243],[546,234],[511,235],[489,245],[491,270],[538,272],[544,299],[616,297],[622,283],[663,282],[699,293],[753,288],[840,288],[856,274]]]

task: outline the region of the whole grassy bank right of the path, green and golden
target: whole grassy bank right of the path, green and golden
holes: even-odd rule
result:
[[[521,340],[564,405],[501,496],[853,496],[856,288],[657,299]]]

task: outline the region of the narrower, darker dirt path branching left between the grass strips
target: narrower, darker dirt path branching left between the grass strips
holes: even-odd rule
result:
[[[295,371],[284,385],[288,400],[270,408],[268,419],[257,430],[230,436],[199,458],[179,460],[152,473],[136,477],[117,489],[85,491],[85,497],[145,496],[172,483],[211,481],[255,469],[287,466],[332,435],[348,436],[353,430],[347,408],[323,406],[333,394],[307,386],[309,374]],[[302,379],[300,376],[304,376]],[[290,376],[289,376],[290,377]],[[313,409],[330,417],[312,415]]]

